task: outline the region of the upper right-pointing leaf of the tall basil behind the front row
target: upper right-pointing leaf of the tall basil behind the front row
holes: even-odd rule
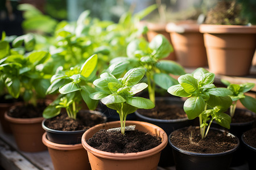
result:
[[[184,68],[178,63],[170,60],[160,60],[155,65],[158,69],[164,70],[167,73],[171,73],[173,75],[183,75],[186,74]]]

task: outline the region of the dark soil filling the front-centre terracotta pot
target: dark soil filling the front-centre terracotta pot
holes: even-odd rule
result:
[[[101,129],[86,142],[101,151],[131,153],[150,150],[160,145],[161,138],[138,130],[125,131],[122,135],[120,131]]]

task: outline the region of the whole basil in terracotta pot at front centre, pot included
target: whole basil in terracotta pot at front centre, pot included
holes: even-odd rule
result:
[[[98,87],[99,91],[91,94],[90,97],[92,97],[92,99],[101,99],[101,102],[106,104],[107,107],[115,109],[119,113],[120,121],[108,122],[106,124],[94,126],[82,135],[82,145],[88,151],[89,162],[92,169],[119,169],[120,167],[123,169],[157,168],[160,151],[163,150],[167,144],[166,133],[159,127],[146,122],[126,121],[127,114],[135,112],[138,108],[149,109],[154,107],[151,100],[134,96],[147,87],[146,83],[138,83],[143,78],[144,72],[145,71],[142,68],[134,68],[127,71],[123,78],[120,79],[115,78],[112,74],[103,73],[101,74],[100,79],[94,80],[93,84]],[[118,128],[117,131],[112,130],[110,134],[108,134],[108,131],[106,130],[99,131],[100,129],[117,128],[118,124],[121,128]],[[138,131],[126,131],[127,125],[135,125],[135,129],[138,129]],[[126,146],[128,146],[129,143],[131,144],[129,139],[125,139],[126,137],[130,137],[132,134],[137,132],[142,133],[142,137],[139,138],[142,139],[143,142],[138,142],[146,143],[146,146],[150,143],[154,143],[154,146],[151,146],[149,150],[144,150],[144,146],[139,145],[139,149],[134,148],[129,150],[127,149],[129,147],[122,147],[123,144],[121,144],[121,146],[119,146],[121,148],[119,149],[121,152],[113,151],[112,153],[102,151],[102,149],[98,148],[103,145],[102,142],[93,142],[92,139],[93,135],[95,136],[96,133],[101,134],[101,132],[103,135],[100,138],[104,139],[104,141],[111,141],[114,137],[114,141],[127,141]],[[155,139],[152,139],[152,141],[150,140],[151,142],[148,143],[144,133],[150,134],[151,137],[152,135],[155,136],[156,141],[160,139],[160,141],[158,141],[159,143],[156,142]],[[121,137],[121,139],[118,139],[118,136]],[[135,138],[136,140],[138,139],[137,137]],[[98,145],[97,148],[94,148],[93,143]],[[117,142],[110,143],[114,144]],[[135,144],[134,146],[138,145]],[[144,151],[141,151],[141,148],[144,148]],[[111,146],[107,147],[107,150],[109,149],[111,149]],[[118,150],[118,147],[114,147],[114,149]],[[150,154],[148,155],[148,153]]]

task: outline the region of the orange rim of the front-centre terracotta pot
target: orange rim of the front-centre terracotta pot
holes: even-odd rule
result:
[[[93,155],[99,156],[101,158],[106,158],[106,159],[114,159],[114,160],[133,160],[133,159],[142,159],[142,158],[146,158],[148,156],[151,155],[155,155],[157,153],[159,153],[160,151],[162,151],[164,149],[164,147],[166,147],[167,143],[168,143],[168,137],[167,134],[165,133],[165,131],[162,128],[159,128],[156,125],[147,123],[147,122],[142,122],[142,121],[126,121],[126,125],[127,124],[141,124],[141,125],[145,125],[145,126],[151,126],[152,128],[155,128],[159,130],[159,136],[162,135],[162,143],[160,143],[160,145],[151,148],[150,150],[147,151],[142,151],[142,152],[134,152],[134,153],[127,153],[127,154],[122,154],[122,153],[112,153],[112,152],[105,152],[105,151],[101,151],[101,150],[97,150],[96,148],[93,148],[91,146],[88,145],[88,143],[86,143],[85,140],[85,136],[90,133],[90,131],[94,131],[94,129],[102,129],[102,127],[107,126],[107,125],[111,125],[111,124],[120,124],[120,121],[113,121],[113,122],[106,122],[104,124],[99,124],[96,126],[93,126],[93,128],[88,129],[87,131],[85,131],[85,133],[82,135],[82,146],[85,148],[85,150],[87,150],[88,152],[91,152]]]

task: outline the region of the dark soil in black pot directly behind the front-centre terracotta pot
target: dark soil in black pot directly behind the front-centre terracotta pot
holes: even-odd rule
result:
[[[187,117],[182,105],[166,104],[163,102],[155,104],[155,107],[152,109],[138,109],[138,113],[161,120],[175,120]]]

